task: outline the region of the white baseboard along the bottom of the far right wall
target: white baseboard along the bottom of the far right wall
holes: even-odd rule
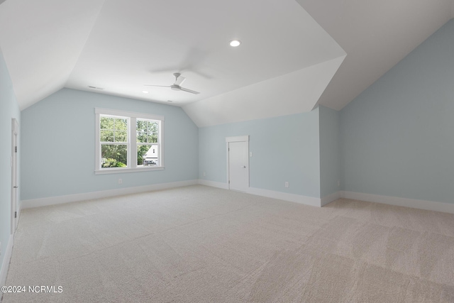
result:
[[[425,209],[428,211],[441,211],[454,214],[454,204],[450,203],[380,196],[378,194],[363,194],[362,192],[341,192],[341,197],[346,199],[377,202],[394,206],[405,206],[414,209]]]

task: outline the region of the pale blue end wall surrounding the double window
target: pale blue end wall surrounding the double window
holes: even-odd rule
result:
[[[94,175],[95,107],[165,116],[165,170]],[[22,200],[198,177],[198,128],[177,106],[61,89],[22,111],[21,135]]]

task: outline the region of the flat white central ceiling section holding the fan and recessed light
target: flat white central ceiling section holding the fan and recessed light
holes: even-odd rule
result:
[[[66,87],[184,106],[343,54],[294,0],[110,0]],[[200,94],[144,87],[174,72]]]

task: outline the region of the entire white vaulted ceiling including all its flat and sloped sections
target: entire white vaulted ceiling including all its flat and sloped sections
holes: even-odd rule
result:
[[[6,0],[0,48],[21,109],[69,87],[210,126],[340,110],[453,16],[453,0]],[[201,93],[144,86],[174,72]]]

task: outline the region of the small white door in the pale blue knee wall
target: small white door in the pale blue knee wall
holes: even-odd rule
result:
[[[246,192],[249,187],[249,142],[228,143],[228,188]]]

